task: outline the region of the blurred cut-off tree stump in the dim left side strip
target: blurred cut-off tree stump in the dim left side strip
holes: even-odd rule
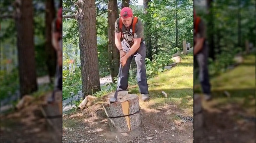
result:
[[[48,97],[46,96],[44,103],[42,103],[41,111],[47,120],[49,129],[54,132],[54,140],[62,142],[62,91],[55,92],[54,103],[47,103]]]

